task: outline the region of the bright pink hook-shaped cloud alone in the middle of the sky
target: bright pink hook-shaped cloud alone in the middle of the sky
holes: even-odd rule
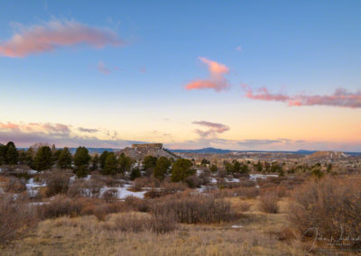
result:
[[[220,92],[230,87],[227,78],[225,78],[225,75],[229,72],[226,65],[204,57],[199,57],[199,60],[207,65],[210,78],[198,79],[190,82],[185,86],[187,90],[213,89]]]

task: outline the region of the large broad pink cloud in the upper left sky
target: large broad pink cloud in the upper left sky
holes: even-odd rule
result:
[[[108,28],[56,20],[28,28],[22,26],[20,32],[15,33],[9,41],[0,44],[0,55],[19,58],[80,43],[96,48],[105,47],[107,44],[125,45],[125,41]]]

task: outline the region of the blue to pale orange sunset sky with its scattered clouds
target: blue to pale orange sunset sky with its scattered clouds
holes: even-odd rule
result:
[[[0,143],[361,151],[361,2],[0,2]]]

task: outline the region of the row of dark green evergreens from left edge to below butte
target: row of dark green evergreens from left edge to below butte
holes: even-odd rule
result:
[[[89,154],[86,147],[79,147],[74,154],[69,148],[57,149],[55,145],[35,144],[27,150],[18,150],[14,142],[0,144],[0,165],[27,165],[37,171],[57,167],[73,169],[78,177],[85,177],[90,171],[99,170],[105,175],[124,174],[128,172],[130,179],[151,176],[163,179],[171,175],[171,181],[177,182],[194,175],[193,163],[186,159],[168,159],[166,157],[146,156],[142,166],[135,160],[121,153],[103,151],[100,155]]]

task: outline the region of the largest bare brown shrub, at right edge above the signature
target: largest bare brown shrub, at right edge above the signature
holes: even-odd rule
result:
[[[358,237],[360,212],[361,178],[358,177],[310,180],[295,188],[289,208],[292,224],[301,233],[317,228],[319,235],[328,238]],[[361,245],[360,241],[352,243]]]

